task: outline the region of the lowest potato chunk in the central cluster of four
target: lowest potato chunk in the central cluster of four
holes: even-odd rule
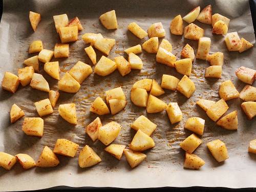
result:
[[[149,95],[146,103],[147,113],[159,113],[167,108],[167,104],[153,95]]]

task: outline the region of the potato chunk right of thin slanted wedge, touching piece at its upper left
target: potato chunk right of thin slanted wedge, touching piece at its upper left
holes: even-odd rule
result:
[[[101,51],[102,53],[109,55],[110,51],[114,47],[116,43],[115,39],[110,39],[110,38],[97,38],[94,47]]]

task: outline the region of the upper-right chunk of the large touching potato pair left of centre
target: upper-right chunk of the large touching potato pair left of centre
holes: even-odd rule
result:
[[[84,62],[77,63],[69,70],[69,74],[80,84],[93,72],[91,66]]]

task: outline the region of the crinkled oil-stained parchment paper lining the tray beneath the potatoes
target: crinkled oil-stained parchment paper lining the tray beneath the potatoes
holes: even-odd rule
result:
[[[81,40],[84,33],[102,33],[104,37],[115,38],[116,45],[109,58],[124,55],[123,50],[142,44],[131,32],[127,31],[127,24],[136,22],[144,30],[151,24],[162,22],[166,30],[166,39],[173,45],[173,53],[180,58],[180,51],[186,43],[194,50],[197,41],[184,39],[183,36],[170,35],[169,23],[177,15],[184,16],[188,11],[211,4],[213,13],[223,14],[231,19],[228,32],[237,31],[240,37],[255,44],[251,14],[248,1],[4,1],[4,13],[0,25],[0,76],[3,78],[5,71],[17,74],[17,69],[22,68],[23,61],[33,56],[28,54],[28,48],[33,40],[41,39],[46,49],[53,50],[59,42],[56,33],[53,15],[67,13],[69,19],[78,16],[84,29],[79,33],[79,40],[70,44],[70,57],[57,59],[60,63],[61,76],[68,71],[78,60],[89,63],[88,56],[84,53],[85,45]],[[117,30],[106,30],[99,23],[100,14],[116,10],[118,19]],[[36,32],[33,32],[29,23],[29,11],[41,14],[41,22]],[[60,98],[54,108],[54,113],[43,117],[45,131],[42,138],[27,136],[22,131],[23,119],[11,124],[9,111],[11,105],[16,103],[24,110],[27,117],[37,117],[34,102],[48,98],[48,93],[32,90],[29,86],[22,87],[15,94],[0,90],[0,151],[15,155],[27,153],[35,160],[44,145],[53,148],[57,138],[66,138],[79,144],[75,158],[58,156],[60,164],[55,168],[32,168],[23,170],[17,163],[12,170],[0,169],[0,191],[32,190],[48,188],[58,185],[67,186],[95,186],[95,187],[164,187],[164,186],[223,186],[223,187],[256,187],[255,165],[256,156],[248,154],[248,142],[256,138],[256,123],[247,120],[240,104],[242,101],[232,99],[228,101],[229,110],[238,110],[238,131],[227,131],[212,122],[205,112],[196,105],[199,98],[219,99],[218,89],[221,82],[231,79],[239,91],[245,86],[239,81],[234,71],[240,66],[255,69],[256,50],[250,49],[242,54],[229,53],[226,50],[224,37],[212,35],[211,26],[195,22],[205,29],[205,36],[211,38],[210,52],[221,51],[225,56],[223,74],[221,79],[205,79],[204,70],[209,64],[203,60],[195,60],[190,78],[195,82],[196,92],[186,99],[178,92],[165,90],[159,98],[166,103],[178,102],[183,112],[180,123],[171,125],[165,112],[147,114],[144,108],[139,108],[131,103],[130,90],[132,84],[139,79],[155,78],[161,83],[163,74],[174,75],[181,78],[175,69],[156,63],[156,54],[141,53],[143,70],[133,70],[129,75],[121,77],[116,70],[106,77],[91,74],[82,84],[76,94],[60,92]],[[184,22],[184,25],[187,25]],[[96,52],[97,60],[101,57]],[[56,59],[53,59],[56,60]],[[40,74],[44,75],[50,89],[57,90],[57,81],[44,72],[40,63]],[[104,152],[104,145],[96,141],[93,143],[85,134],[84,128],[97,115],[90,113],[90,104],[98,96],[103,97],[104,91],[121,86],[126,94],[128,103],[124,111],[117,115],[101,116],[102,123],[112,120],[122,125],[118,138],[113,143],[129,144],[135,134],[130,129],[130,124],[140,115],[145,115],[157,124],[153,134],[156,146],[146,153],[146,160],[137,168],[131,169],[125,157],[120,161]],[[63,103],[76,103],[78,124],[73,126],[58,115],[58,105]],[[227,112],[227,113],[228,113]],[[184,152],[179,143],[191,132],[184,130],[187,118],[198,116],[205,119],[205,131],[202,136],[203,143],[195,154],[205,160],[206,164],[200,170],[183,169]],[[206,143],[210,140],[221,139],[226,143],[229,159],[224,163],[217,163],[207,150]],[[79,168],[78,154],[84,145],[90,145],[102,158],[102,162],[91,168]]]

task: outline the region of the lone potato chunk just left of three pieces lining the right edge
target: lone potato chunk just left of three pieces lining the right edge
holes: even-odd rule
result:
[[[238,98],[239,92],[237,91],[236,87],[234,87],[232,81],[226,80],[220,85],[219,95],[221,99],[227,101],[230,99]]]

